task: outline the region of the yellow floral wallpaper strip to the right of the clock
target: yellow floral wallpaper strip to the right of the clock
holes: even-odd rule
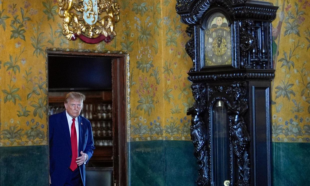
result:
[[[309,142],[310,137],[310,32],[307,0],[274,1],[279,6],[273,21],[272,138],[282,142]]]

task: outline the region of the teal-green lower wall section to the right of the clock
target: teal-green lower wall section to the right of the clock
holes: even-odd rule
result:
[[[310,185],[310,143],[272,143],[273,186]]]

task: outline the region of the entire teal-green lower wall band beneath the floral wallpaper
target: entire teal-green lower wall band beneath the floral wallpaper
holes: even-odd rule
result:
[[[310,143],[272,143],[273,185],[310,183]],[[128,142],[130,186],[196,186],[191,141]],[[48,186],[48,146],[0,148],[0,186]]]

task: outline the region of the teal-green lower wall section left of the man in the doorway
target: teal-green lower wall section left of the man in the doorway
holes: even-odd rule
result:
[[[0,147],[0,186],[48,186],[48,146]]]

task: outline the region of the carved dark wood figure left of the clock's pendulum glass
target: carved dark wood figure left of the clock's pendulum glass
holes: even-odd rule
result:
[[[206,112],[206,87],[204,84],[192,85],[193,96],[195,103],[192,107],[188,108],[187,115],[192,115],[191,125],[191,137],[195,147],[194,155],[198,159],[198,179],[196,183],[198,186],[205,186],[209,183],[208,179],[208,130],[205,122],[203,121],[203,115]]]

